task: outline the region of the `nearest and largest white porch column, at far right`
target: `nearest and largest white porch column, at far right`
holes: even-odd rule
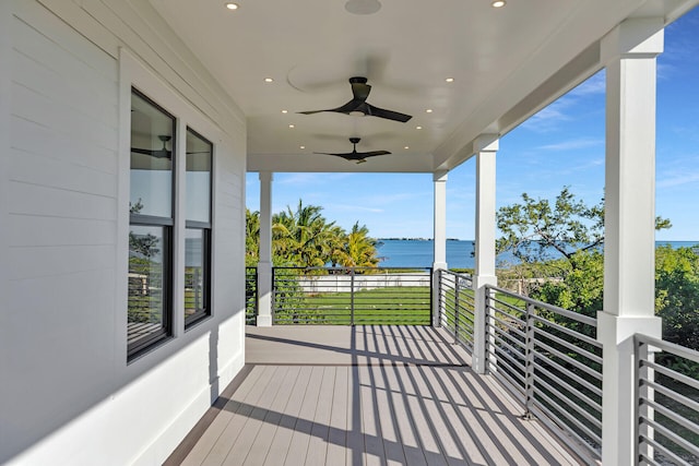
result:
[[[606,63],[602,462],[636,464],[635,333],[661,336],[654,316],[655,57],[663,20],[627,21],[602,41]]]

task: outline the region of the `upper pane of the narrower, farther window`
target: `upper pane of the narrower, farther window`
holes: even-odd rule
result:
[[[212,144],[187,130],[187,219],[211,223]]]

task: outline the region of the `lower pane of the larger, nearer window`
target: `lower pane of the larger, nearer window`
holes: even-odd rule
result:
[[[129,346],[167,328],[166,228],[131,225],[129,231]]]

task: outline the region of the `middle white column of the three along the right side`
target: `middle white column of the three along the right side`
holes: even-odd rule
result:
[[[497,285],[495,276],[495,158],[497,136],[483,135],[476,141],[476,268],[473,274],[475,322],[473,325],[473,369],[485,373],[486,285]]]

